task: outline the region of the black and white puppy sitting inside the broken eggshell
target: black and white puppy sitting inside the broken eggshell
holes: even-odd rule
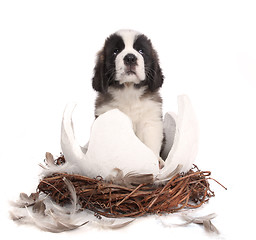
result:
[[[133,30],[110,35],[98,53],[93,88],[95,116],[118,108],[130,117],[137,137],[159,157],[163,142],[164,76],[151,41]]]

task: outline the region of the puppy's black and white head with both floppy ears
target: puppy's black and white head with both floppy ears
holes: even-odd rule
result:
[[[154,92],[163,79],[151,41],[136,31],[120,30],[106,39],[98,53],[92,85],[101,93],[107,92],[109,86],[122,88],[125,83],[147,86]]]

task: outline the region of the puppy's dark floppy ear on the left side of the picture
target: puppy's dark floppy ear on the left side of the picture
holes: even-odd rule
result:
[[[94,90],[105,93],[108,89],[108,83],[105,76],[105,55],[104,49],[102,49],[96,60],[96,65],[94,67],[94,76],[92,78],[92,87]]]

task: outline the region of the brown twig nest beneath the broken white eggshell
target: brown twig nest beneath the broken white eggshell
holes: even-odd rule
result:
[[[59,165],[65,159],[61,156],[55,162]],[[55,173],[43,178],[38,190],[61,206],[69,204],[72,194],[67,179],[74,186],[81,209],[89,209],[99,217],[138,217],[200,207],[214,196],[208,182],[212,179],[210,175],[210,171],[201,171],[194,165],[186,174],[176,174],[165,184],[151,182],[124,186],[101,177]]]

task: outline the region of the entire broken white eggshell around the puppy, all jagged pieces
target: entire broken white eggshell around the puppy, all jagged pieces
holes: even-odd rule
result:
[[[153,174],[156,181],[165,181],[174,173],[186,172],[195,160],[198,148],[198,126],[187,96],[178,97],[178,115],[167,113],[164,119],[166,137],[160,170],[158,157],[134,134],[132,122],[118,109],[110,110],[95,119],[86,147],[75,139],[69,104],[63,115],[61,147],[66,163],[76,173],[106,179],[115,169],[129,173]],[[68,171],[68,169],[66,169]]]

